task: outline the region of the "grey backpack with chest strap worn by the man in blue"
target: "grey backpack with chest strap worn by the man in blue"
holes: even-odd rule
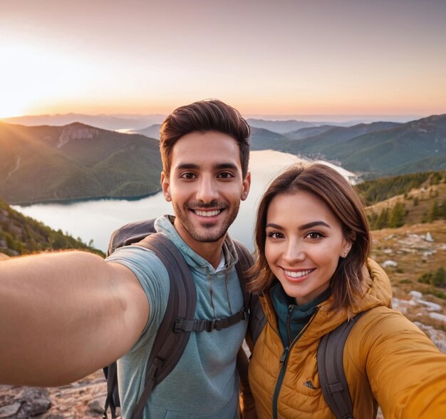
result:
[[[119,228],[112,234],[107,252],[110,255],[116,248],[130,244],[149,248],[155,252],[164,264],[170,280],[170,293],[166,312],[147,359],[145,388],[133,411],[132,419],[142,418],[142,412],[150,393],[155,388],[155,385],[166,378],[175,368],[185,350],[192,331],[210,332],[228,328],[240,320],[247,319],[249,311],[249,294],[246,291],[243,272],[251,267],[253,260],[251,253],[242,243],[234,240],[234,246],[239,258],[235,268],[244,294],[242,310],[225,318],[197,320],[194,318],[197,303],[195,284],[190,268],[177,246],[167,237],[156,233],[154,221],[155,219],[137,221]],[[109,407],[112,418],[116,418],[116,408],[120,407],[116,363],[105,367],[104,374],[105,378],[107,378],[107,398],[105,400],[103,418],[108,418],[107,410]]]

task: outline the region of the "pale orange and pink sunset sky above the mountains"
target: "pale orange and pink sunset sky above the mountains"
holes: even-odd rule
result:
[[[0,118],[446,113],[445,0],[0,0]]]

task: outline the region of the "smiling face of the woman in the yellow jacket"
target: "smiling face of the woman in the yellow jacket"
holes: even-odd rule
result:
[[[325,202],[306,191],[275,196],[266,213],[266,261],[286,294],[299,305],[330,285],[339,257],[351,243]]]

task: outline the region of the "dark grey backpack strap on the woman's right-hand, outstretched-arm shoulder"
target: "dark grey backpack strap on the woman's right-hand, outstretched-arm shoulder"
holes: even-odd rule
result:
[[[318,374],[323,398],[338,419],[353,419],[353,403],[343,366],[343,352],[348,333],[361,315],[363,313],[358,313],[323,335],[318,346]]]

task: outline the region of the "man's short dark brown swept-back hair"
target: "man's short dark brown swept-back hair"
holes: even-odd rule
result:
[[[162,123],[160,129],[160,152],[162,170],[170,175],[172,148],[188,133],[219,131],[232,136],[239,144],[243,178],[248,173],[249,125],[237,109],[217,99],[197,101],[175,109]]]

